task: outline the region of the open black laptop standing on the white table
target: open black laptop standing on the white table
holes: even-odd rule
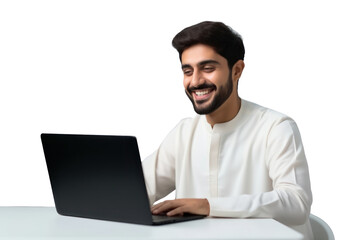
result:
[[[160,225],[204,216],[152,215],[133,136],[41,134],[59,214]]]

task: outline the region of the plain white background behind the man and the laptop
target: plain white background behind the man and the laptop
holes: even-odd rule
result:
[[[244,39],[240,96],[296,120],[312,213],[358,236],[355,2],[0,1],[0,206],[53,205],[42,132],[135,135],[153,152],[194,115],[171,40],[215,20]]]

